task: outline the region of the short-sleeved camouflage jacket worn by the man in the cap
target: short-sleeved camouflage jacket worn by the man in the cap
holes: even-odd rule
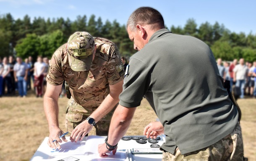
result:
[[[52,56],[47,82],[63,84],[65,80],[73,99],[83,107],[98,107],[110,93],[109,85],[123,80],[124,71],[117,46],[104,38],[94,38],[97,45],[91,69],[74,72],[68,64],[66,43]]]

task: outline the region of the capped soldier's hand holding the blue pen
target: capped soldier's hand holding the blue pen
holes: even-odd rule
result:
[[[62,143],[62,140],[64,142],[67,142],[65,136],[62,137],[62,140],[59,138],[61,135],[63,135],[63,131],[60,130],[60,128],[52,128],[52,130],[50,130],[50,135],[49,135],[49,140],[47,142],[48,146],[50,146],[53,149],[60,149],[60,144]],[[56,140],[55,142],[52,142]]]

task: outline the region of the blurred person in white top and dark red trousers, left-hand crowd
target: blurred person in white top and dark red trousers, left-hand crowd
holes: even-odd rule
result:
[[[36,88],[37,97],[43,95],[43,80],[44,80],[45,63],[42,56],[37,57],[37,62],[34,64],[34,87]]]

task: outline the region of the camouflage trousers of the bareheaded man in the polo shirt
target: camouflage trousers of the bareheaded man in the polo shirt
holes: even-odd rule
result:
[[[225,138],[201,150],[182,155],[176,148],[175,156],[163,151],[162,161],[246,161],[240,124]]]

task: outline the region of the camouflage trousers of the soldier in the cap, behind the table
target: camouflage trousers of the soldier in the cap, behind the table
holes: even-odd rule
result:
[[[117,105],[115,106],[117,107]],[[110,121],[114,113],[115,107],[107,115],[105,115],[101,120],[99,120],[94,126],[96,129],[96,135],[107,136],[110,127]],[[76,128],[77,125],[82,123],[86,118],[88,118],[92,112],[94,112],[97,107],[82,107],[71,97],[68,101],[68,107],[65,117],[65,128],[69,134]]]

